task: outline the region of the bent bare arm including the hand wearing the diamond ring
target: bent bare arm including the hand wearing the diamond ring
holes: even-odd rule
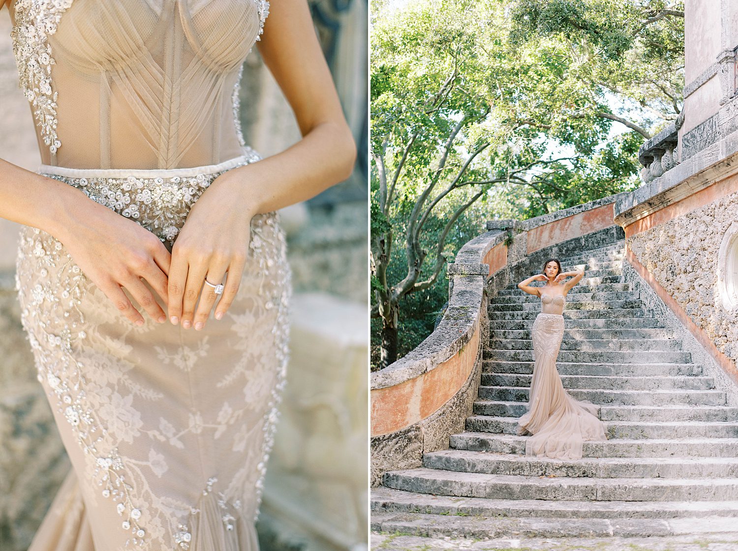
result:
[[[235,299],[254,215],[314,197],[347,179],[356,161],[354,136],[307,1],[272,1],[257,45],[303,138],[281,153],[218,176],[193,205],[174,243],[169,272],[170,320],[181,321],[185,329],[203,328],[210,316],[216,296],[204,288],[206,279],[219,283],[228,274],[216,319]]]

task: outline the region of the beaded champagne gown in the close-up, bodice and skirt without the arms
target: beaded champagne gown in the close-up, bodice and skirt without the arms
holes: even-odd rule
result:
[[[241,136],[238,83],[268,13],[266,0],[15,0],[38,172],[171,251],[215,177],[261,159]],[[251,232],[224,318],[183,330],[142,308],[132,324],[63,243],[23,226],[21,321],[72,462],[30,551],[258,550],[292,276],[277,212]]]

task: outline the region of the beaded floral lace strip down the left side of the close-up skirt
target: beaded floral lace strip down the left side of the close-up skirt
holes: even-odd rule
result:
[[[117,503],[117,512],[123,517],[121,526],[132,530],[134,544],[143,544],[145,530],[138,523],[141,510],[131,499],[133,488],[126,482],[117,449],[108,446],[105,423],[100,423],[86,399],[87,381],[75,359],[75,345],[87,337],[79,307],[88,280],[62,249],[61,242],[38,228],[25,226],[21,232],[16,291],[24,288],[18,274],[22,273],[26,252],[41,266],[39,283],[33,286],[30,295],[19,295],[21,322],[35,356],[38,381],[46,383],[50,403],[66,417],[88,462],[94,465],[94,482],[103,488],[103,497]]]

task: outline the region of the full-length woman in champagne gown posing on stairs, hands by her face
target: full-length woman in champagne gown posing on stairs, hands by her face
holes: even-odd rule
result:
[[[607,440],[604,423],[597,417],[597,406],[572,398],[556,370],[556,358],[564,336],[566,295],[582,277],[584,271],[562,273],[559,260],[551,258],[546,261],[542,274],[517,284],[526,293],[541,298],[541,313],[531,332],[534,364],[528,412],[518,420],[518,434],[533,434],[525,442],[526,455],[579,459],[582,442]],[[532,287],[530,284],[534,281],[546,283]]]

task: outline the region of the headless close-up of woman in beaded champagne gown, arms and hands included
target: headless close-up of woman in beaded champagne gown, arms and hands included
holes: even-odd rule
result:
[[[258,550],[292,293],[276,211],[356,156],[306,0],[4,4],[43,164],[0,161],[0,216],[24,225],[21,321],[72,462],[30,551]],[[256,41],[303,134],[266,159],[238,125]]]

